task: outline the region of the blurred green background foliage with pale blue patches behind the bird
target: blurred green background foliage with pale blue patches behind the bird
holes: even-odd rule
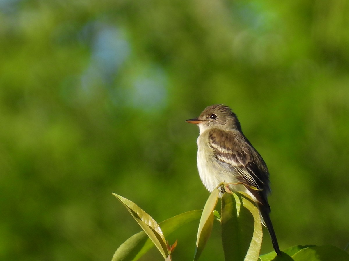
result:
[[[281,248],[349,243],[348,1],[0,10],[1,260],[111,260],[140,231],[111,192],[159,222],[201,209],[198,128],[185,120],[215,103],[269,167]],[[197,225],[170,237],[174,260],[192,259]],[[218,224],[201,260],[223,260]]]

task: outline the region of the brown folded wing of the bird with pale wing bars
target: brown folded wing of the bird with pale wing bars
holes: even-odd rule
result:
[[[268,191],[259,192],[266,188],[269,190],[268,170],[243,134],[214,129],[209,133],[209,145],[214,149],[217,160],[226,165],[239,182],[247,185],[247,189],[263,204]]]

